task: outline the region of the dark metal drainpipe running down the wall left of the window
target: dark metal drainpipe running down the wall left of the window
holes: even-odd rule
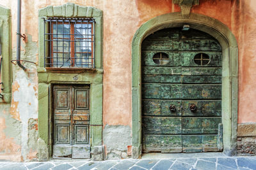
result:
[[[20,63],[20,13],[21,13],[21,0],[18,0],[18,9],[17,9],[17,64],[19,67],[26,71],[26,67],[22,66]]]

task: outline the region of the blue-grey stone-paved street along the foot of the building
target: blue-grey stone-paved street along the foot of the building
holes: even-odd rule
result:
[[[256,157],[216,157],[191,159],[123,159],[100,162],[84,160],[52,160],[49,162],[0,162],[0,169],[65,170],[65,169],[256,169]]]

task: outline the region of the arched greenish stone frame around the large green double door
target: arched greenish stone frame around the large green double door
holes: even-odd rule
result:
[[[223,153],[236,155],[238,47],[227,25],[205,15],[191,13],[183,18],[180,12],[167,13],[145,22],[132,39],[132,158],[141,156],[141,43],[148,35],[160,29],[182,27],[206,32],[217,39],[222,48],[222,123]]]

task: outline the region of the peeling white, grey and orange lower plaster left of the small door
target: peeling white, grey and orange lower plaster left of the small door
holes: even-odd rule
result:
[[[22,41],[20,56],[23,60],[36,62],[37,43],[27,34],[28,42]],[[12,49],[13,59],[16,48]],[[13,161],[38,160],[38,80],[36,66],[24,63],[28,71],[13,66],[12,103],[1,104],[0,159]],[[1,114],[0,114],[1,117]],[[2,132],[1,130],[4,130]],[[7,132],[7,133],[6,133]],[[9,143],[9,145],[8,145]]]

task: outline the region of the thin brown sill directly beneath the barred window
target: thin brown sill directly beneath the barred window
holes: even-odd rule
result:
[[[97,69],[95,68],[53,68],[45,67],[47,72],[51,73],[96,73]]]

